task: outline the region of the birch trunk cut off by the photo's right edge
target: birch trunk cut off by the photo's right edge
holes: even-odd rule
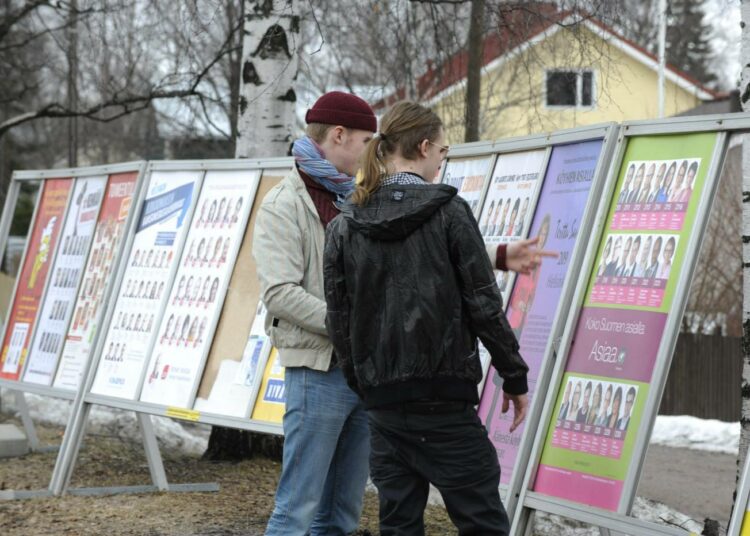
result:
[[[742,80],[740,102],[745,112],[750,111],[750,0],[740,2],[742,19]],[[742,471],[750,445],[750,140],[742,144],[742,417],[740,418],[740,453],[737,474]],[[744,505],[742,505],[744,508]]]

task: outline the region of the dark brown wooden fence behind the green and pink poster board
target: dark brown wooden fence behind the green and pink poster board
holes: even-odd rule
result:
[[[740,338],[681,333],[659,414],[737,422],[741,385]]]

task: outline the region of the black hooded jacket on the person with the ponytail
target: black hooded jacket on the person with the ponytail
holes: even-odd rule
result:
[[[477,337],[510,394],[528,367],[503,312],[469,205],[442,184],[381,187],[326,231],[326,326],[369,408],[419,399],[476,403]]]

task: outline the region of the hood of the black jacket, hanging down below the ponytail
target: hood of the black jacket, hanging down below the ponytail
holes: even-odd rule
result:
[[[364,206],[347,203],[351,229],[376,240],[401,240],[422,226],[458,191],[447,184],[393,184],[379,188]]]

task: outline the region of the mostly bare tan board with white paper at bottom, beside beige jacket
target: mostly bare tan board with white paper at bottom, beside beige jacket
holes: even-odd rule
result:
[[[242,360],[251,332],[255,330],[260,303],[252,252],[253,230],[263,198],[289,171],[264,170],[261,176],[193,406],[197,411],[239,418],[248,418],[252,412],[255,397],[253,389],[246,385],[246,376],[242,375]],[[248,314],[253,310],[255,316]]]

